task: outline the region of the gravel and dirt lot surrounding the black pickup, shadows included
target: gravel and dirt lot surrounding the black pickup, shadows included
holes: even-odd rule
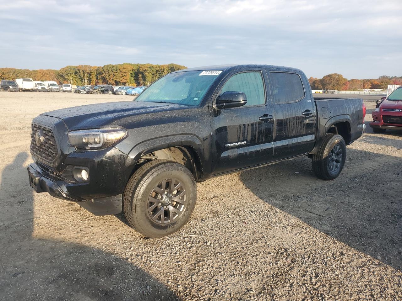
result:
[[[402,132],[368,127],[334,181],[300,158],[199,183],[162,239],[33,193],[33,117],[131,99],[0,92],[0,300],[402,299]]]

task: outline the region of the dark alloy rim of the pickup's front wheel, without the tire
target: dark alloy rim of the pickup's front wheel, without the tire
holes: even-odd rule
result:
[[[177,179],[163,180],[148,197],[148,213],[158,225],[172,224],[183,214],[186,205],[186,189]]]

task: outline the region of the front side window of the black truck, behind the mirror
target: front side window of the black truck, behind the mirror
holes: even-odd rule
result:
[[[265,104],[264,83],[260,72],[243,72],[233,75],[224,84],[221,93],[226,91],[246,94],[245,106]]]

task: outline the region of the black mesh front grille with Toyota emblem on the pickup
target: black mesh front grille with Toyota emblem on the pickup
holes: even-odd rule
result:
[[[35,141],[35,135],[38,130],[43,134],[42,142],[39,146],[37,146]],[[56,159],[58,150],[51,128],[39,124],[32,124],[31,153],[47,162],[53,162]]]

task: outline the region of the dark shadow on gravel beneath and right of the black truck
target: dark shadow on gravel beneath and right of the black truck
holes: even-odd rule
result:
[[[374,183],[371,173],[378,175]],[[402,268],[400,157],[348,148],[345,168],[333,181],[316,179],[306,157],[244,171],[240,178],[267,203]]]

